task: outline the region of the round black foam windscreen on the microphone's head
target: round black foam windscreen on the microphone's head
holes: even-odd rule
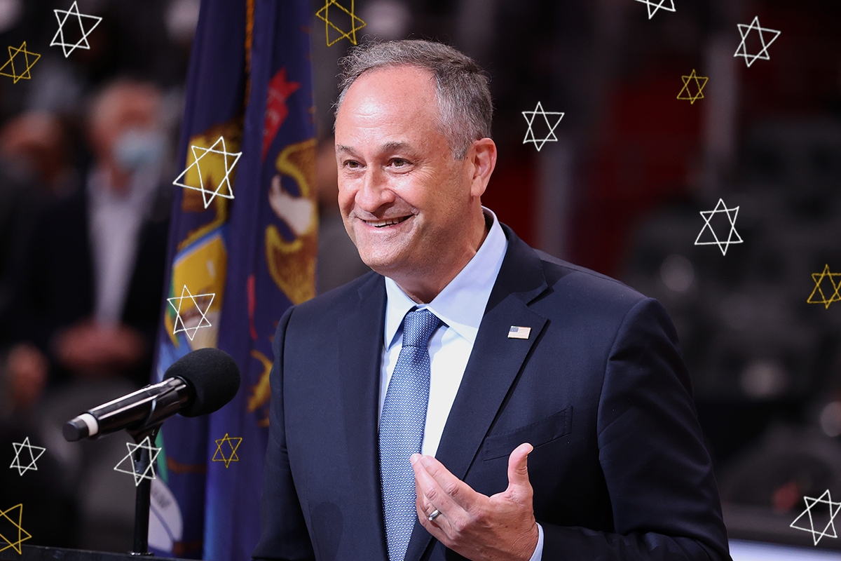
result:
[[[207,415],[234,399],[240,389],[240,368],[225,351],[198,349],[179,358],[167,368],[164,379],[177,376],[193,387],[192,403],[183,406],[185,417]]]

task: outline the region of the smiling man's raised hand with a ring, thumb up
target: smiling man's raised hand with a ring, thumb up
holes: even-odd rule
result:
[[[508,458],[508,489],[485,496],[447,471],[431,456],[412,455],[417,512],[421,524],[447,548],[473,561],[528,561],[537,547],[537,522],[526,458],[531,444]],[[429,516],[441,512],[434,521]]]

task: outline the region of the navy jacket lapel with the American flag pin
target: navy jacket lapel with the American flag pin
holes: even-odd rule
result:
[[[547,288],[540,257],[507,226],[503,229],[508,250],[436,452],[436,458],[459,479],[468,473],[547,322],[527,305]],[[509,339],[512,325],[531,327],[529,338]],[[430,540],[431,534],[420,521],[415,522],[405,561],[420,559]]]

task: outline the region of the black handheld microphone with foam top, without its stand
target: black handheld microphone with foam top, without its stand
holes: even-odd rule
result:
[[[87,410],[67,421],[62,432],[67,442],[76,442],[155,426],[176,413],[207,415],[234,399],[239,389],[240,368],[227,352],[198,349],[172,363],[162,382]]]

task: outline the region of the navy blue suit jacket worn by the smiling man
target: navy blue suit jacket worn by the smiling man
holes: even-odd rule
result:
[[[474,490],[528,472],[543,560],[729,559],[674,327],[631,288],[535,251],[505,227],[438,458]],[[388,559],[378,468],[386,294],[368,273],[290,308],[274,339],[262,559]],[[511,325],[532,328],[509,339]],[[420,522],[407,561],[459,559]]]

